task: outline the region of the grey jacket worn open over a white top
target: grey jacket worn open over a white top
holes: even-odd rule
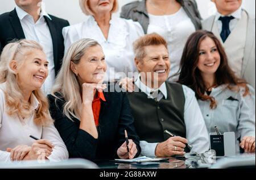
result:
[[[194,24],[196,30],[201,29],[201,15],[197,9],[195,0],[181,0],[181,6],[187,12],[187,15]],[[133,19],[138,21],[143,27],[144,33],[147,34],[149,17],[146,9],[146,0],[134,1],[122,7],[121,18]]]

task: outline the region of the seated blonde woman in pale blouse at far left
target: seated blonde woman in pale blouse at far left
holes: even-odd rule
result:
[[[48,63],[43,48],[35,41],[10,43],[2,51],[0,162],[68,158],[40,90],[48,76]]]

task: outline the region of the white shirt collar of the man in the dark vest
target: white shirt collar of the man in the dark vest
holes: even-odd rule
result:
[[[162,83],[162,85],[158,88],[158,89],[151,89],[150,87],[144,85],[144,83],[141,81],[141,74],[139,74],[139,77],[137,78],[137,80],[134,82],[134,84],[139,87],[139,89],[147,94],[148,97],[151,97],[151,92],[152,91],[160,91],[163,95],[164,98],[167,99],[167,89],[166,89],[166,82]]]

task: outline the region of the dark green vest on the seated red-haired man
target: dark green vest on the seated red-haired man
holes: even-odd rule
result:
[[[136,87],[137,88],[137,87]],[[168,130],[176,136],[186,137],[184,123],[185,97],[182,85],[166,82],[167,99],[159,102],[147,94],[128,93],[134,125],[140,140],[160,143],[170,138],[164,133]]]

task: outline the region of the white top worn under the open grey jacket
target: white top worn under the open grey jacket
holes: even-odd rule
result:
[[[148,25],[147,34],[156,32],[163,36],[168,43],[171,61],[169,77],[171,77],[178,72],[185,43],[188,37],[196,31],[196,28],[183,7],[172,15],[148,15],[150,24]],[[175,76],[170,78],[170,80],[176,81],[178,78],[178,76]]]

